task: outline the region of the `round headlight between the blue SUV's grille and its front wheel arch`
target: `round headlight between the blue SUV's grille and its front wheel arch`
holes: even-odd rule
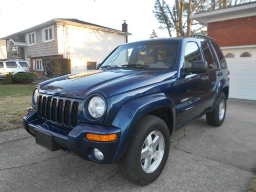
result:
[[[101,117],[105,111],[104,100],[99,96],[93,97],[88,104],[88,111],[94,118]]]

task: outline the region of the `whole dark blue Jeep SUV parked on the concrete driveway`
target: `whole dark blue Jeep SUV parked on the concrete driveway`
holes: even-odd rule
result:
[[[212,126],[224,122],[228,80],[207,36],[132,42],[98,70],[39,83],[24,126],[51,151],[118,162],[126,179],[146,185],[161,174],[175,131],[203,115]]]

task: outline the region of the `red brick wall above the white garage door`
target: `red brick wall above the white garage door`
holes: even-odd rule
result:
[[[256,16],[208,23],[207,29],[220,47],[256,45]]]

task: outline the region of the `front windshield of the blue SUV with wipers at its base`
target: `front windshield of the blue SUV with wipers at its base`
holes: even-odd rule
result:
[[[174,70],[178,40],[136,42],[118,47],[100,69]]]

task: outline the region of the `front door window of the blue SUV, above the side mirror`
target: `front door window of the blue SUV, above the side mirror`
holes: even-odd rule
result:
[[[196,42],[187,42],[185,48],[184,68],[191,68],[193,61],[203,60]]]

